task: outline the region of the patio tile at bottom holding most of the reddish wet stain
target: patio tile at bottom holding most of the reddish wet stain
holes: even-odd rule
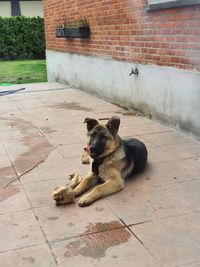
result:
[[[63,267],[161,266],[124,227],[54,243],[52,249]]]

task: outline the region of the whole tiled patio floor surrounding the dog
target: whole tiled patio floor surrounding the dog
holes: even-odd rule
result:
[[[0,96],[0,266],[200,266],[200,143],[59,83],[25,87]],[[88,169],[84,118],[112,115],[148,167],[89,207],[56,207],[54,187]]]

